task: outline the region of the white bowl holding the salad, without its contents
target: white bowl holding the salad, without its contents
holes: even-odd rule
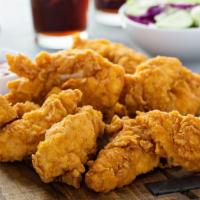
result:
[[[200,61],[200,28],[161,29],[143,25],[125,15],[125,5],[120,8],[119,15],[124,29],[147,53]]]

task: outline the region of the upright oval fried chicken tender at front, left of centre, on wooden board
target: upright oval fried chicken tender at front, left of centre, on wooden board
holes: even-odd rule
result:
[[[79,188],[84,164],[96,152],[96,140],[103,130],[101,112],[91,106],[80,108],[47,131],[32,156],[33,167],[46,183],[59,180]]]

